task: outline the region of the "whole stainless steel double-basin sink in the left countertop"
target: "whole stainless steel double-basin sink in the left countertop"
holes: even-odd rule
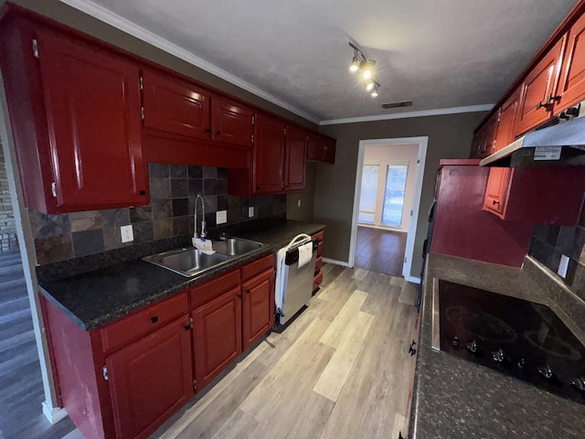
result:
[[[207,254],[196,248],[183,248],[170,252],[156,253],[143,258],[146,262],[183,274],[187,277],[205,273],[224,262],[232,261],[249,252],[260,249],[263,244],[257,241],[230,238],[226,241],[214,241],[215,253]]]

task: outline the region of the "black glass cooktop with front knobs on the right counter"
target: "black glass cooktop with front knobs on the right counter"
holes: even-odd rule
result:
[[[585,403],[585,348],[548,306],[447,281],[439,304],[442,351]]]

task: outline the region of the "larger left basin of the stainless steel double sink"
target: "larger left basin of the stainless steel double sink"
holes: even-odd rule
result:
[[[165,267],[184,276],[195,276],[228,260],[225,254],[206,254],[197,249],[178,249],[146,256],[146,262]]]

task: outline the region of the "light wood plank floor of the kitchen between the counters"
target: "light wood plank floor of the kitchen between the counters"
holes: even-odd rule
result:
[[[406,436],[416,287],[363,269],[325,264],[323,270],[323,287],[301,316],[282,334],[271,333],[153,437]]]

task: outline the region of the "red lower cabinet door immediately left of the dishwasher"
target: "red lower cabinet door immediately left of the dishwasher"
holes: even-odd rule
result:
[[[242,284],[244,349],[274,326],[274,270]]]

